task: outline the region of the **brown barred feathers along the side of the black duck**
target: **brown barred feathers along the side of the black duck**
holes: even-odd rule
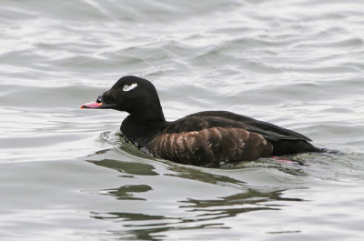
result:
[[[273,151],[273,146],[257,133],[222,127],[156,136],[146,147],[158,158],[197,166],[253,160]]]

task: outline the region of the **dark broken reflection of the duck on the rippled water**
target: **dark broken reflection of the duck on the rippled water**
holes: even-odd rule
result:
[[[98,152],[94,156],[88,156],[92,158],[89,158],[87,161],[96,166],[104,166],[118,171],[122,174],[120,178],[132,178],[133,180],[138,180],[139,178],[140,183],[102,189],[97,194],[114,196],[117,200],[126,202],[126,208],[130,202],[134,202],[134,206],[150,206],[149,208],[152,210],[154,208],[171,208],[171,206],[175,206],[175,209],[177,209],[172,215],[168,215],[167,211],[159,212],[164,215],[154,215],[156,212],[143,212],[143,210],[139,213],[136,213],[135,210],[127,212],[125,208],[123,210],[115,210],[115,212],[91,212],[91,216],[96,219],[119,223],[121,225],[120,230],[112,230],[110,232],[120,238],[160,240],[163,237],[162,234],[167,231],[200,228],[228,229],[230,227],[225,224],[224,218],[259,210],[276,211],[280,210],[281,206],[288,205],[288,202],[304,201],[299,198],[283,197],[283,193],[287,188],[270,188],[270,190],[269,188],[253,188],[248,186],[243,180],[211,173],[208,170],[209,168],[160,162],[159,164],[165,168],[163,169],[160,166],[154,165],[156,161],[148,164],[145,160],[144,162],[136,162],[135,160],[123,161],[104,158],[112,156],[113,152],[120,152],[120,150],[108,149]],[[159,178],[159,181],[156,184],[147,183],[143,181],[145,180],[142,178],[143,176]],[[235,189],[236,192],[233,195],[206,199],[190,198],[188,196],[179,200],[172,198],[172,200],[168,200],[172,204],[163,206],[166,203],[164,199],[169,195],[173,196],[173,194],[167,193],[167,190],[161,190],[166,186],[170,187],[170,185],[173,185],[165,181],[165,184],[160,186],[160,178],[167,179],[167,177],[183,178],[215,186],[226,186],[227,188]],[[187,188],[194,189],[193,186],[187,186]],[[170,190],[169,188],[167,189]],[[164,193],[165,196],[158,196],[160,198],[158,200],[149,200],[146,197],[147,195],[144,195],[156,190]],[[199,192],[204,192],[204,190]],[[156,206],[158,201],[161,204]],[[280,201],[280,204],[277,204],[277,201]]]

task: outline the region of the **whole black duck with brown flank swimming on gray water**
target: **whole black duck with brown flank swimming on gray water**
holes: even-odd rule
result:
[[[120,78],[96,102],[81,108],[126,111],[120,130],[128,140],[157,158],[182,164],[220,166],[322,151],[307,136],[227,111],[198,112],[168,122],[155,86],[136,76]]]

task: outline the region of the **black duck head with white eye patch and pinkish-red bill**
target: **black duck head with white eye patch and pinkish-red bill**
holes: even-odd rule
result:
[[[81,108],[125,111],[136,123],[166,122],[155,86],[147,79],[132,75],[121,77],[95,102]]]

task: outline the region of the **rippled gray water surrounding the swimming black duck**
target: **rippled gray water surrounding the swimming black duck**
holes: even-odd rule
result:
[[[0,45],[1,240],[363,240],[363,1],[3,0]],[[168,120],[228,110],[340,153],[148,158],[125,113],[79,109],[123,75]]]

